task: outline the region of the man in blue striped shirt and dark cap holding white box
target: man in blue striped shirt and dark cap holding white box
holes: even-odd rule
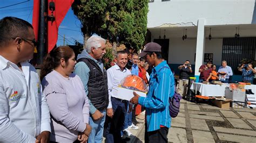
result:
[[[174,77],[170,67],[161,57],[161,46],[155,42],[145,45],[140,57],[154,66],[150,75],[147,97],[133,92],[131,103],[140,104],[146,109],[145,142],[168,142],[167,134],[171,127],[169,98],[174,94]]]

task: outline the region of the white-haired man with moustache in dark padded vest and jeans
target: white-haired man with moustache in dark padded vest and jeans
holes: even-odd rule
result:
[[[86,47],[77,56],[75,74],[83,84],[85,92],[90,99],[89,124],[92,127],[88,142],[102,142],[106,109],[109,105],[109,92],[107,89],[107,73],[102,57],[106,53],[106,40],[98,35],[92,35]]]

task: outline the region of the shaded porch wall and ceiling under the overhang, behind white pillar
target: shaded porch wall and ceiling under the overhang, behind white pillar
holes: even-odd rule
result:
[[[205,53],[213,53],[213,63],[221,65],[223,38],[234,37],[235,25],[228,26],[212,26],[211,35],[212,39],[208,39],[210,27],[205,27]],[[185,60],[190,60],[194,64],[194,53],[196,53],[197,46],[197,26],[185,27],[187,29],[188,38],[184,41],[183,27],[166,28],[166,39],[169,42],[169,63],[180,64]],[[158,39],[159,28],[150,29],[151,40]],[[161,38],[164,36],[164,30],[161,29]],[[256,37],[256,25],[240,25],[240,37]]]

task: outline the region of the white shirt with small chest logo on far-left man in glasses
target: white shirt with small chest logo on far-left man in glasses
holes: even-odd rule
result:
[[[17,65],[0,55],[0,142],[35,142],[51,131],[49,106],[36,69]]]

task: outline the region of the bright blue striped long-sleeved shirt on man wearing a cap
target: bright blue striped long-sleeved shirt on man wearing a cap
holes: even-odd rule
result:
[[[139,97],[139,104],[146,109],[147,132],[158,130],[160,125],[170,128],[169,97],[173,94],[174,76],[163,61],[152,69],[147,97]]]

